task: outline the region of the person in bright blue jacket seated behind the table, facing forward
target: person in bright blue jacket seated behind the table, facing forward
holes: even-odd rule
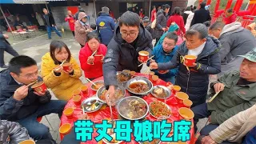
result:
[[[166,34],[166,37],[163,39],[161,45],[155,46],[152,52],[154,55],[155,62],[170,62],[174,57],[174,54],[178,50],[176,42],[178,41],[178,35],[174,32],[169,32]],[[175,82],[175,76],[178,73],[178,67],[172,70],[154,70],[155,74],[159,76],[162,80],[166,82]]]

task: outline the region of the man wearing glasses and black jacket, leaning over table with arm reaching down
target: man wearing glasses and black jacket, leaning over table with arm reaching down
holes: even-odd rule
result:
[[[151,54],[153,48],[151,34],[142,26],[138,14],[130,11],[122,14],[114,31],[103,63],[104,82],[109,88],[110,99],[114,95],[114,86],[118,85],[117,71],[140,72],[138,52],[146,50]]]

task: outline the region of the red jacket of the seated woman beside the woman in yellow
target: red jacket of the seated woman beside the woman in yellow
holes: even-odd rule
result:
[[[103,44],[100,44],[98,46],[97,55],[102,54],[104,57],[106,55],[106,46]],[[93,54],[93,51],[90,50],[90,47],[88,46],[88,42],[86,43],[86,46],[84,46],[79,53],[79,60],[81,64],[82,70],[85,72],[86,78],[98,78],[103,75],[102,71],[102,61],[95,61],[94,64],[90,65],[87,63],[87,59]],[[95,54],[95,55],[96,55]]]

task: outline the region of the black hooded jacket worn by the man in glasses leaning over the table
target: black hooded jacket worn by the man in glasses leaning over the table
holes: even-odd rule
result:
[[[103,75],[105,86],[117,86],[116,72],[121,70],[134,70],[140,72],[142,66],[138,65],[138,52],[148,51],[150,54],[153,49],[152,37],[150,32],[144,29],[142,24],[139,27],[138,38],[135,46],[127,43],[120,34],[120,27],[114,30],[114,37],[111,39],[103,62]]]

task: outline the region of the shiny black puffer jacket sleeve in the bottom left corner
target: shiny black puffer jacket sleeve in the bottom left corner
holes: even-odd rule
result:
[[[19,125],[18,122],[0,120],[0,143],[7,144],[9,141],[8,136],[10,137],[10,144],[17,144],[30,139],[26,128]]]

